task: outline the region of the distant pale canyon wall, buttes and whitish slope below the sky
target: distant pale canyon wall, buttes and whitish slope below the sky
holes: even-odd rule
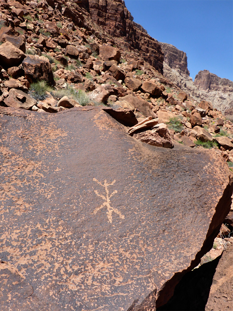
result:
[[[233,82],[208,70],[200,71],[194,81],[189,77],[187,56],[171,44],[161,43],[164,53],[163,74],[195,100],[209,100],[213,107],[233,118]]]

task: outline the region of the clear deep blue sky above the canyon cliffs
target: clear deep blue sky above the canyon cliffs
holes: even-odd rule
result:
[[[232,0],[125,0],[150,36],[186,52],[190,77],[207,69],[233,81]]]

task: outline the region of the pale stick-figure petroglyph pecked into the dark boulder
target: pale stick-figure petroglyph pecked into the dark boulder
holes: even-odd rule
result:
[[[95,182],[97,182],[99,185],[101,185],[102,187],[105,188],[105,191],[106,191],[106,197],[103,195],[103,194],[99,194],[97,190],[94,190],[95,194],[98,195],[98,197],[101,197],[103,200],[105,200],[105,202],[100,205],[99,207],[97,207],[95,210],[94,210],[94,214],[96,214],[99,210],[101,210],[103,207],[107,207],[107,218],[109,220],[110,223],[112,223],[112,212],[115,212],[116,214],[118,214],[120,216],[120,218],[124,219],[125,216],[121,214],[120,211],[118,211],[117,208],[114,208],[110,205],[111,201],[111,197],[117,193],[117,190],[114,190],[111,194],[109,194],[109,191],[108,191],[108,186],[112,186],[116,180],[113,180],[112,183],[107,183],[107,180],[105,179],[104,180],[104,184],[102,184],[101,182],[99,182],[96,178],[93,178],[93,180]]]

